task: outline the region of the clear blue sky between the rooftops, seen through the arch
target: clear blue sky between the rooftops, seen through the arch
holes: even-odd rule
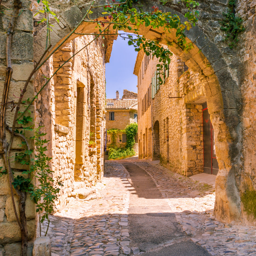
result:
[[[114,40],[110,61],[105,66],[107,99],[114,99],[116,91],[122,98],[124,89],[137,92],[137,76],[133,74],[136,57],[137,52],[127,39],[118,36]]]

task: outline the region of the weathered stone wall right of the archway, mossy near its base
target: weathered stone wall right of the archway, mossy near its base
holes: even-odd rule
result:
[[[256,1],[237,2],[237,13],[244,20],[245,31],[239,36],[238,47],[225,52],[229,67],[237,72],[241,84],[240,117],[242,140],[241,157],[235,166],[235,182],[241,199],[241,219],[255,225],[256,209]],[[218,188],[217,191],[220,191]],[[225,200],[225,199],[223,199]],[[218,202],[219,207],[219,202]],[[216,211],[217,212],[217,211]],[[221,218],[226,212],[218,214]]]

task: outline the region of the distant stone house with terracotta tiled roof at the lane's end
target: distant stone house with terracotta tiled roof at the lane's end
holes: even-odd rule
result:
[[[122,99],[116,91],[116,99],[106,99],[106,130],[124,130],[130,123],[137,123],[137,93],[123,90]],[[118,132],[115,134],[115,141],[110,134],[106,138],[106,150],[109,147],[123,147],[126,145],[126,134]],[[134,150],[138,153],[138,144],[135,143]]]

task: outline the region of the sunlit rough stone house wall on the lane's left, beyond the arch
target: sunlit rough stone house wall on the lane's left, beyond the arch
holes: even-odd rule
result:
[[[53,69],[55,72],[63,61],[68,60],[92,38],[93,36],[81,37],[66,43],[55,52],[52,66],[50,63],[46,70]],[[104,42],[104,39],[96,39],[88,46],[89,56],[84,49],[70,59],[57,71],[54,80],[38,97],[37,112],[40,125],[46,124],[45,130],[51,130],[51,168],[54,170],[54,177],[60,176],[64,185],[56,205],[57,210],[67,204],[71,191],[83,186],[92,186],[103,175]],[[36,88],[40,88],[42,84],[40,79],[42,78],[38,75]],[[46,102],[50,102],[49,107]],[[42,104],[46,106],[45,109]],[[90,130],[94,131],[94,138],[90,138]],[[97,147],[88,148],[89,140],[94,140]]]

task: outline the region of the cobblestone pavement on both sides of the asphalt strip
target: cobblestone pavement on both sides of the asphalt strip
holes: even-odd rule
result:
[[[145,160],[130,161],[151,176],[187,238],[211,255],[256,256],[255,227],[215,220],[215,193],[211,186]],[[96,199],[86,201],[71,197],[67,207],[50,216],[47,236],[51,238],[52,256],[133,254],[127,211],[134,188],[129,173],[121,163],[106,161],[104,178],[94,188]],[[43,224],[42,234],[47,228],[47,223]],[[134,253],[140,252],[135,248]]]

